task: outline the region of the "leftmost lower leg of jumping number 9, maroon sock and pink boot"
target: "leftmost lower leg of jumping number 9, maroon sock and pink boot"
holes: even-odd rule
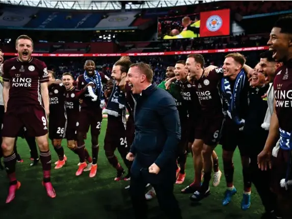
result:
[[[3,137],[2,151],[4,156],[4,166],[9,178],[9,191],[6,203],[11,202],[15,198],[16,190],[20,187],[20,182],[15,176],[16,155],[13,151],[15,138]]]

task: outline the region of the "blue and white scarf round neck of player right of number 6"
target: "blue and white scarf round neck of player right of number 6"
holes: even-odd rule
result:
[[[226,98],[228,104],[227,114],[230,119],[232,119],[238,126],[240,126],[240,130],[243,128],[245,120],[238,116],[237,111],[238,108],[240,108],[240,94],[244,89],[245,80],[245,71],[241,70],[241,72],[236,76],[233,92],[231,91],[228,78],[223,77],[221,80],[221,92]]]

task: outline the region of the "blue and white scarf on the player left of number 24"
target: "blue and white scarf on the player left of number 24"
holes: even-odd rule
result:
[[[93,101],[96,101],[97,99],[100,100],[100,107],[102,108],[105,102],[100,74],[98,73],[98,71],[94,71],[94,74],[92,76],[88,76],[87,71],[85,71],[84,79],[87,84],[93,83],[95,85],[95,88],[92,88],[91,86],[88,87],[88,93],[92,97]]]

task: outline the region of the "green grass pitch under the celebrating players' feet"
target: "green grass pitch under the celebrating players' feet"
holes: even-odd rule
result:
[[[115,182],[115,169],[110,166],[104,155],[103,139],[107,120],[102,123],[102,130],[99,136],[99,158],[98,171],[95,178],[89,178],[89,172],[76,177],[78,157],[69,151],[66,147],[66,141],[62,142],[65,154],[68,157],[67,164],[60,170],[54,169],[54,162],[57,155],[50,145],[52,154],[51,181],[57,193],[55,199],[50,199],[41,185],[42,169],[39,163],[36,167],[30,167],[30,153],[26,142],[19,139],[17,148],[19,154],[24,160],[23,163],[17,163],[16,174],[21,182],[21,187],[17,191],[15,200],[10,204],[5,204],[8,191],[8,180],[5,171],[0,171],[0,219],[118,219],[132,218],[131,203],[128,191],[124,189],[129,182]],[[91,154],[90,136],[86,141],[86,147]],[[222,166],[222,149],[218,146],[216,152],[219,156],[220,168]],[[118,152],[116,155],[122,162]],[[221,178],[218,187],[210,187],[211,195],[200,203],[194,205],[189,200],[190,195],[180,194],[180,189],[187,186],[194,177],[194,170],[191,156],[187,160],[187,177],[182,185],[175,185],[175,195],[179,201],[184,219],[196,218],[214,218],[216,219],[257,219],[263,212],[261,201],[252,189],[251,207],[247,211],[241,210],[243,179],[242,167],[238,150],[234,154],[234,185],[237,188],[237,194],[233,196],[232,202],[223,207],[222,198],[225,191],[225,178]],[[158,207],[156,199],[148,202],[149,218],[164,218]]]

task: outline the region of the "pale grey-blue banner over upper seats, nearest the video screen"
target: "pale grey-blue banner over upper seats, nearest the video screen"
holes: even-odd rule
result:
[[[137,12],[109,13],[107,18],[103,18],[95,28],[127,29],[135,20]]]

